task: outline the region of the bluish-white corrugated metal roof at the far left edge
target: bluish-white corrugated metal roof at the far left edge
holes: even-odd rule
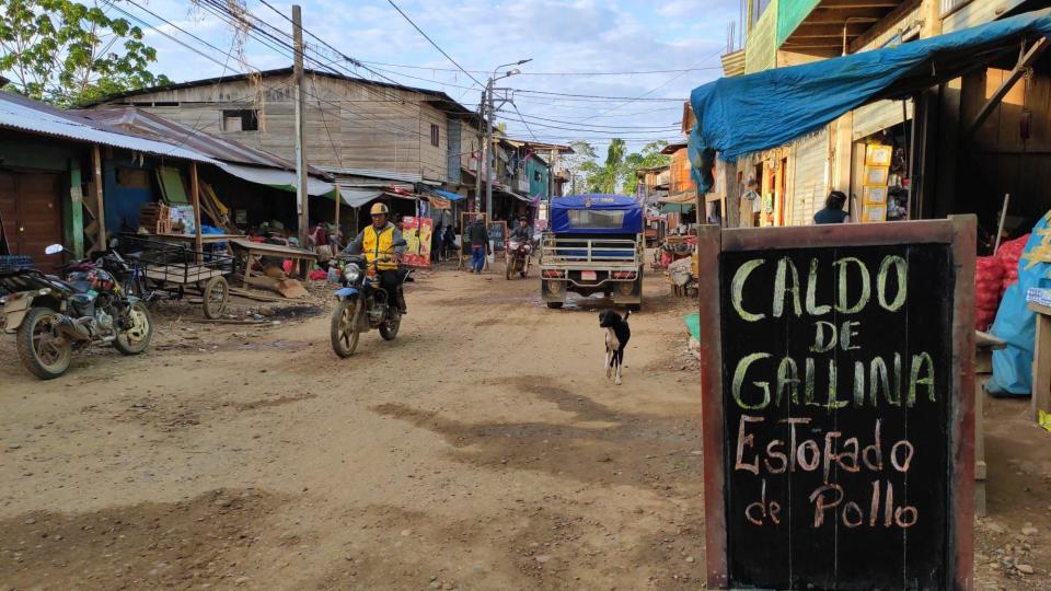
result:
[[[219,164],[217,160],[200,152],[174,143],[130,136],[104,124],[8,92],[0,92],[0,127]]]

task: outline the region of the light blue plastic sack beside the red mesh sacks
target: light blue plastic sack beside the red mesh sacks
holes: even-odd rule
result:
[[[1048,228],[1047,215],[1033,227],[1023,252],[1028,253],[1042,243],[1043,239],[1037,230],[1044,228]],[[1010,243],[1004,244],[1001,253],[1007,244]],[[1026,291],[1039,287],[1040,279],[1051,273],[1051,264],[1037,263],[1026,269],[1026,262],[1021,260],[1023,252],[1018,253],[1015,264],[1018,280],[1004,292],[996,322],[990,331],[1007,341],[1006,348],[993,351],[993,376],[985,382],[985,392],[994,395],[1028,396],[1032,392],[1032,339],[1037,327],[1033,312],[1026,304]]]

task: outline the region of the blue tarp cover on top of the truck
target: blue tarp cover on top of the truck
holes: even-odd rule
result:
[[[567,234],[637,234],[643,206],[623,195],[570,195],[551,201],[551,231]]]

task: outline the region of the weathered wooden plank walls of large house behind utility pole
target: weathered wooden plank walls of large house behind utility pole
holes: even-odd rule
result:
[[[424,183],[457,190],[477,115],[440,91],[308,70],[308,162],[338,179]],[[291,68],[195,80],[109,96],[182,125],[293,159]],[[466,149],[465,149],[466,148]],[[470,167],[470,166],[467,166]]]

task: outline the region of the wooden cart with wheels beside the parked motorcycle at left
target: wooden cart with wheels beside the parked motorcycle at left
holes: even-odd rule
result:
[[[143,300],[182,300],[187,292],[199,294],[205,317],[222,316],[230,300],[227,276],[233,273],[233,257],[216,251],[197,252],[186,245],[122,235],[118,250],[141,268]]]

